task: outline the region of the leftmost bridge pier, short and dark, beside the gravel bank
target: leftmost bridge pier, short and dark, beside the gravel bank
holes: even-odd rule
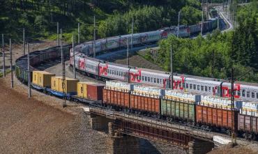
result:
[[[107,130],[108,123],[111,121],[105,116],[97,116],[96,114],[89,114],[89,125],[93,130]]]

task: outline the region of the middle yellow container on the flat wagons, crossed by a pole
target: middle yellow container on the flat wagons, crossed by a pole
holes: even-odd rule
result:
[[[65,93],[77,93],[77,82],[78,79],[70,79],[66,77],[66,87]],[[54,91],[63,92],[63,77],[52,77],[51,78],[51,88]]]

